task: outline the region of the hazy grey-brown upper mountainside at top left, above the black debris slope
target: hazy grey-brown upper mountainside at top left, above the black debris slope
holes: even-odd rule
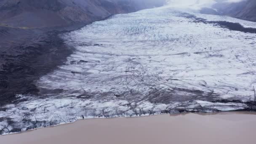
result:
[[[163,5],[165,0],[0,0],[0,23],[11,27],[87,24],[116,13]]]

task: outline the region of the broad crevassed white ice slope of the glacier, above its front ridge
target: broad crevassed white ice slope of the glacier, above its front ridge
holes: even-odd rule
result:
[[[76,51],[38,86],[93,99],[253,99],[255,34],[182,15],[155,8],[67,33],[62,37]]]

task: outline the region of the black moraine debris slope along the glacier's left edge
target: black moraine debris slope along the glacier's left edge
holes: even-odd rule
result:
[[[64,64],[72,48],[68,48],[58,34],[49,32],[43,43],[17,47],[16,51],[23,51],[23,54],[5,54],[8,59],[0,72],[0,105],[19,102],[14,101],[16,94],[37,94],[39,89],[34,84],[35,80]]]

